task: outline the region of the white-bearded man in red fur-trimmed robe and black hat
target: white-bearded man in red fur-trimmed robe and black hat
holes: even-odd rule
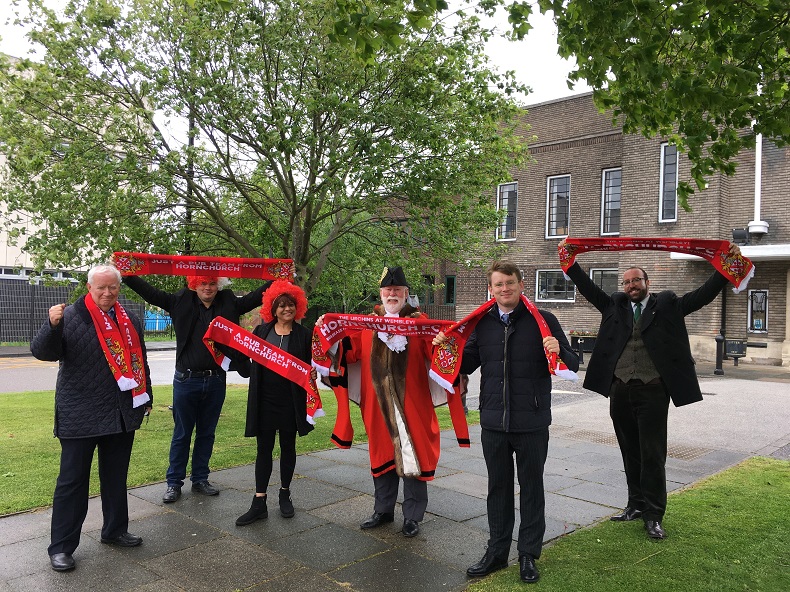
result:
[[[386,267],[380,280],[382,317],[425,316],[408,304],[409,284],[400,267]],[[318,320],[320,326],[323,318]],[[376,528],[395,519],[403,481],[403,535],[416,536],[428,505],[428,485],[439,460],[439,422],[431,398],[428,340],[360,330],[344,339],[349,399],[359,403],[368,435],[375,486],[373,515],[360,526]]]

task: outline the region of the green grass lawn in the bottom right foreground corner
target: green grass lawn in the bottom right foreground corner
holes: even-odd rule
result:
[[[749,459],[669,497],[668,538],[641,520],[603,522],[544,549],[541,579],[518,567],[471,592],[786,592],[790,590],[790,462]]]

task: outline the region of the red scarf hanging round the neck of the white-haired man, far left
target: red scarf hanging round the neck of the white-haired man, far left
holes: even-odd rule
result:
[[[90,294],[85,296],[85,306],[91,315],[104,358],[118,383],[118,388],[122,391],[132,391],[132,407],[147,403],[151,397],[145,390],[147,381],[143,348],[129,315],[126,314],[123,306],[116,302],[113,305],[115,318],[118,321],[116,325],[110,315],[96,305]]]

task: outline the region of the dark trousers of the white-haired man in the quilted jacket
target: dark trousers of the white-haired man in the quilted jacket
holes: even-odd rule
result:
[[[126,477],[134,431],[92,438],[60,440],[60,474],[52,501],[52,541],[47,552],[74,553],[88,514],[91,463],[99,449],[99,483],[104,523],[102,538],[114,538],[129,528]]]

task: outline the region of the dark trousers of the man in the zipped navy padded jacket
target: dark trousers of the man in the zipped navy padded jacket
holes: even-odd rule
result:
[[[521,489],[518,528],[518,554],[540,557],[546,532],[546,497],[543,491],[543,467],[549,453],[549,428],[532,432],[497,432],[483,429],[480,436],[483,457],[488,469],[488,548],[497,557],[510,554],[516,521],[513,454],[515,475]]]

